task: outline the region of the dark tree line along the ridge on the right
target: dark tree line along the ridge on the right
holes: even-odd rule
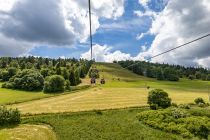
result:
[[[138,75],[156,78],[157,80],[179,81],[179,78],[189,78],[190,80],[200,79],[210,81],[210,70],[202,67],[184,67],[131,60],[115,63]]]

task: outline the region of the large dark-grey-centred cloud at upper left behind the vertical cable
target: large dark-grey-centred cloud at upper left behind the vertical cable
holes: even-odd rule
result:
[[[100,18],[122,16],[124,0],[92,0],[92,9],[94,34],[100,27]],[[86,42],[89,37],[88,1],[1,0],[0,34],[4,39],[27,42],[29,46],[71,47],[77,41]],[[0,46],[0,51],[2,48],[5,46]]]

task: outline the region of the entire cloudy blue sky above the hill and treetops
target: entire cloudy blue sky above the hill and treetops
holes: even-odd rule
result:
[[[91,0],[97,62],[148,60],[210,33],[209,0]],[[210,38],[152,62],[210,67]],[[0,0],[0,56],[90,59],[88,0]]]

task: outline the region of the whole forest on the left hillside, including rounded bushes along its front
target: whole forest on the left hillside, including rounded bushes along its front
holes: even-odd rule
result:
[[[63,92],[85,78],[92,61],[42,57],[0,58],[0,81],[3,88],[28,91]]]

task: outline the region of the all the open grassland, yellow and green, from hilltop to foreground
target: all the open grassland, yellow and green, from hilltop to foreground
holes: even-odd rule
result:
[[[72,94],[49,97],[50,95],[43,93],[0,88],[0,103],[25,101],[8,105],[8,107],[18,108],[21,111],[24,116],[23,125],[12,129],[0,129],[0,139],[10,140],[14,138],[14,135],[20,137],[19,139],[25,139],[24,135],[31,133],[30,139],[36,140],[37,137],[34,137],[33,134],[40,133],[46,137],[46,140],[51,136],[50,139],[54,139],[55,134],[58,140],[180,140],[183,138],[178,135],[152,129],[138,121],[137,113],[148,108],[128,107],[146,106],[148,92],[154,88],[167,91],[172,101],[178,104],[192,103],[197,97],[208,100],[208,85],[210,83],[206,81],[187,79],[181,79],[179,82],[157,81],[133,74],[117,64],[96,63],[95,65],[100,70],[101,77],[106,79],[106,84],[97,84],[93,88]],[[89,79],[83,81],[87,84]],[[97,82],[99,83],[99,81]],[[148,90],[147,86],[151,88]],[[39,97],[35,97],[35,95]],[[47,97],[45,98],[45,96]],[[39,98],[43,99],[33,100]],[[27,116],[27,113],[32,116]],[[36,128],[40,123],[50,125],[55,134],[49,129]],[[35,133],[33,130],[37,130],[37,132]],[[43,137],[39,139],[44,139]]]

